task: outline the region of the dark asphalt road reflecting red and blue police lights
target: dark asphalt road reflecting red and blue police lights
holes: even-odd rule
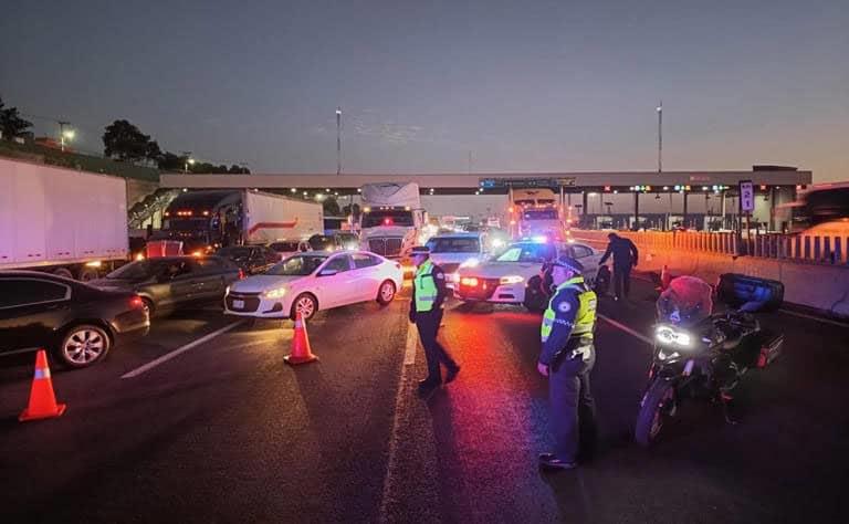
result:
[[[291,323],[231,326],[214,308],[159,319],[91,369],[54,370],[69,408],[40,422],[17,421],[32,357],[0,360],[0,520],[845,522],[849,326],[764,315],[785,353],[746,376],[742,423],[686,405],[647,451],[631,429],[651,348],[628,331],[650,333],[652,292],[602,300],[620,325],[597,332],[601,448],[546,474],[539,316],[452,304],[441,337],[462,370],[422,400],[408,301],[321,313],[308,326],[321,360],[296,368],[283,363]]]

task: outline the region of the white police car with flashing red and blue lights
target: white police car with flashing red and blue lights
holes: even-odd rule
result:
[[[454,295],[461,301],[525,304],[528,281],[539,275],[543,263],[559,255],[577,259],[584,265],[584,277],[593,285],[598,274],[601,253],[578,242],[516,242],[491,261],[474,266],[461,266],[449,279],[454,281]]]

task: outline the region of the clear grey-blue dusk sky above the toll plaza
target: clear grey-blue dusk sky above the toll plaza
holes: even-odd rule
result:
[[[849,179],[849,1],[14,2],[0,96],[254,172],[811,169]]]

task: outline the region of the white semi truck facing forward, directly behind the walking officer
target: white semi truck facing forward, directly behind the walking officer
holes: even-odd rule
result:
[[[428,240],[428,216],[421,208],[418,184],[366,184],[360,193],[359,229],[365,251],[408,259],[413,245]]]

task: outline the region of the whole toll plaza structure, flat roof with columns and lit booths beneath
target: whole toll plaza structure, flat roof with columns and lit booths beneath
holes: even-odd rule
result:
[[[782,166],[754,166],[748,171],[578,171],[578,172],[454,172],[454,174],[262,174],[163,175],[170,189],[258,189],[302,198],[347,198],[358,201],[358,189],[374,182],[416,182],[431,214],[497,214],[506,208],[510,187],[549,187],[560,192],[562,205],[585,227],[628,229],[636,223],[665,229],[670,223],[704,227],[711,220],[735,223],[737,187],[755,187],[754,220],[771,230],[789,221],[782,203],[796,199],[796,190],[811,182],[811,172]],[[495,198],[502,196],[502,198]],[[446,198],[449,197],[449,198]],[[343,199],[343,202],[345,200]],[[463,212],[463,214],[468,214]],[[784,216],[786,214],[786,217]]]

